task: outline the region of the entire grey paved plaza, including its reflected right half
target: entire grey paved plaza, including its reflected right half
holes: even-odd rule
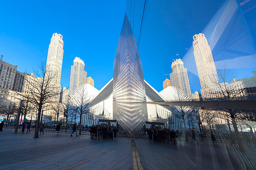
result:
[[[219,144],[200,145],[178,140],[176,146],[152,144],[146,138],[119,136],[117,140],[91,140],[89,135],[70,137],[52,133],[32,138],[32,133],[0,133],[1,169],[240,169],[230,150]],[[228,154],[229,158],[227,159]]]

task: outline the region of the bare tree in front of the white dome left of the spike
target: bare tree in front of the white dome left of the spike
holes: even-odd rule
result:
[[[82,115],[89,112],[88,106],[90,101],[92,101],[92,97],[88,93],[86,84],[80,86],[80,88],[72,95],[72,109],[75,114],[79,114],[79,135],[81,135]]]

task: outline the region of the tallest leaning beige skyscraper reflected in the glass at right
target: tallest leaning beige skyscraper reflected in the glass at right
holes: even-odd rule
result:
[[[194,56],[202,89],[218,83],[218,75],[213,61],[212,51],[204,34],[193,36]]]

